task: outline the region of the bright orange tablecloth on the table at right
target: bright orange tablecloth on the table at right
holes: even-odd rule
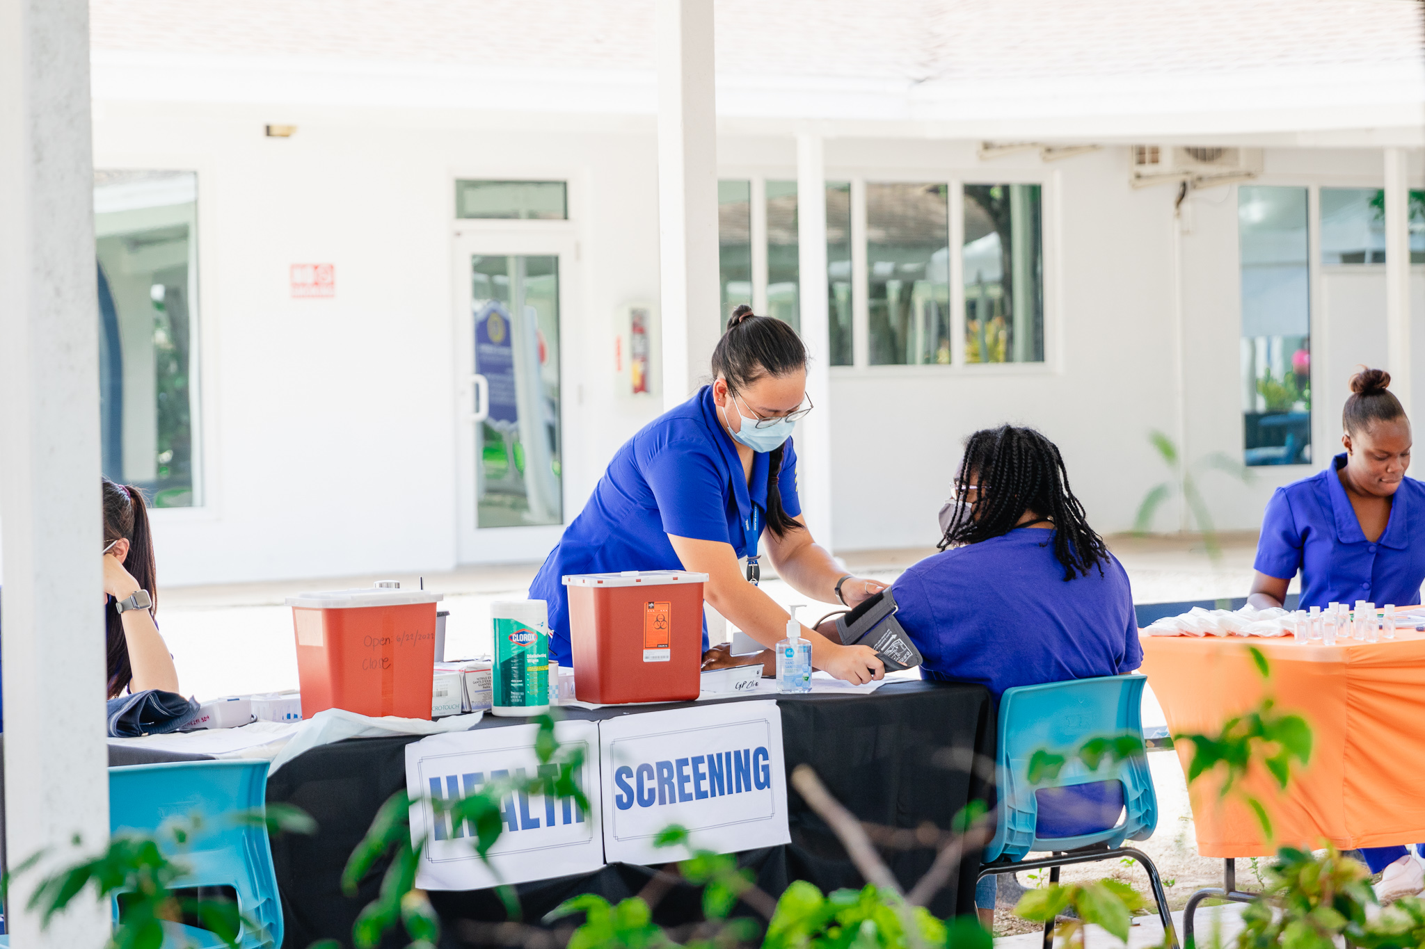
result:
[[[1270,694],[1311,726],[1311,761],[1292,764],[1285,791],[1260,764],[1245,790],[1271,815],[1268,841],[1253,811],[1203,775],[1188,788],[1203,857],[1264,857],[1278,847],[1349,849],[1425,841],[1425,635],[1335,646],[1245,636],[1143,636],[1143,669],[1170,734],[1217,734]],[[1263,679],[1248,646],[1271,663]],[[1178,743],[1187,771],[1191,744]]]

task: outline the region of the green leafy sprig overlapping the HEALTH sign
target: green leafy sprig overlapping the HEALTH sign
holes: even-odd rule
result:
[[[477,791],[459,800],[412,801],[405,791],[398,791],[380,805],[366,835],[352,851],[342,872],[342,892],[355,896],[361,882],[370,875],[376,864],[389,857],[390,864],[380,881],[376,899],[366,903],[352,925],[352,942],[356,949],[375,949],[382,936],[399,923],[410,936],[408,949],[426,949],[440,939],[440,923],[430,901],[415,889],[416,869],[425,841],[410,842],[410,808],[429,804],[436,820],[462,821],[470,828],[475,851],[489,866],[489,852],[500,838],[500,805],[512,794],[543,794],[553,798],[571,798],[580,808],[589,810],[589,798],[579,787],[576,775],[584,764],[583,748],[561,748],[554,737],[554,717],[537,716],[530,720],[539,726],[534,738],[534,756],[539,760],[534,777],[523,773],[482,784]],[[504,903],[510,919],[520,918],[520,903],[510,886],[499,886],[496,892]]]

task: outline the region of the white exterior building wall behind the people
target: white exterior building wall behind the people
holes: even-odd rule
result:
[[[295,122],[298,134],[265,138],[269,121]],[[580,250],[563,339],[566,521],[617,447],[657,414],[657,397],[617,394],[613,364],[617,309],[658,299],[651,122],[551,131],[551,120],[526,128],[503,121],[335,108],[97,108],[95,166],[200,174],[207,504],[155,512],[165,583],[455,565],[455,499],[466,489],[453,454],[457,176],[570,181]],[[1264,181],[1312,169],[1378,175],[1372,152],[1284,154],[1268,151]],[[727,174],[795,176],[791,137],[724,137],[720,155]],[[1278,161],[1290,171],[1275,172]],[[962,440],[1006,421],[1036,425],[1063,448],[1096,528],[1127,529],[1143,495],[1170,474],[1149,431],[1177,438],[1176,189],[1133,189],[1121,147],[1050,164],[1035,152],[985,162],[968,142],[831,139],[826,162],[829,181],[915,175],[1046,185],[1045,366],[832,371],[838,548],[933,544]],[[1190,460],[1211,451],[1241,457],[1231,192],[1191,195],[1181,238]],[[292,299],[292,263],[335,263],[336,297]],[[1257,474],[1253,487],[1204,475],[1220,528],[1257,526],[1270,491],[1307,472]],[[1157,529],[1177,526],[1176,509],[1160,512]]]

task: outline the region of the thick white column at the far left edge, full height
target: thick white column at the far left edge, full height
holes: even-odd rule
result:
[[[0,0],[0,521],[4,773],[16,946],[101,946],[88,891],[47,932],[38,875],[108,838],[98,313],[86,0]]]

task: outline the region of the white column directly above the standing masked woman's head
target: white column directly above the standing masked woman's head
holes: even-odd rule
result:
[[[683,403],[717,346],[717,110],[712,0],[658,3],[658,246],[663,404]]]

